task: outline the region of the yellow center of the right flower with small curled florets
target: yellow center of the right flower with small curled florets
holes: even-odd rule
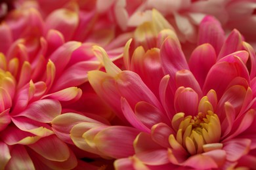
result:
[[[197,116],[184,116],[179,112],[173,116],[172,125],[177,131],[176,137],[169,136],[173,149],[184,148],[191,155],[222,148],[221,123],[207,96],[203,97],[198,107]]]

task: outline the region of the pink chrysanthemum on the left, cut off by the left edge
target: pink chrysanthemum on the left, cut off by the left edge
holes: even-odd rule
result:
[[[60,13],[61,18],[65,12]],[[0,25],[0,169],[97,168],[79,160],[90,156],[62,141],[51,127],[64,110],[77,109],[74,103],[82,96],[81,88],[87,90],[87,71],[101,67],[91,50],[93,43],[69,41],[74,37],[68,29],[51,27],[54,20],[49,18],[54,17],[45,21],[39,10],[22,6]],[[113,59],[120,53],[112,50],[115,43],[108,48]],[[100,101],[87,91],[83,101]]]

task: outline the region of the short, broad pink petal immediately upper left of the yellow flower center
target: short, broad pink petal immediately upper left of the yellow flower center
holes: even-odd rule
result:
[[[137,118],[151,129],[152,126],[160,122],[168,124],[168,118],[158,108],[154,107],[150,103],[140,101],[135,105],[135,115]]]

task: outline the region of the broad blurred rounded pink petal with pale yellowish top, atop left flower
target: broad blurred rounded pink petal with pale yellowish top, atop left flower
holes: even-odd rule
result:
[[[78,22],[79,18],[77,12],[68,9],[54,10],[45,19],[47,31],[49,29],[60,31],[63,34],[65,41],[69,41],[72,38]]]

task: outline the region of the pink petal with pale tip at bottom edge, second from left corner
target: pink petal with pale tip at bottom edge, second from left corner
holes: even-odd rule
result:
[[[26,148],[16,144],[11,150],[11,160],[5,169],[35,169],[35,167]]]

